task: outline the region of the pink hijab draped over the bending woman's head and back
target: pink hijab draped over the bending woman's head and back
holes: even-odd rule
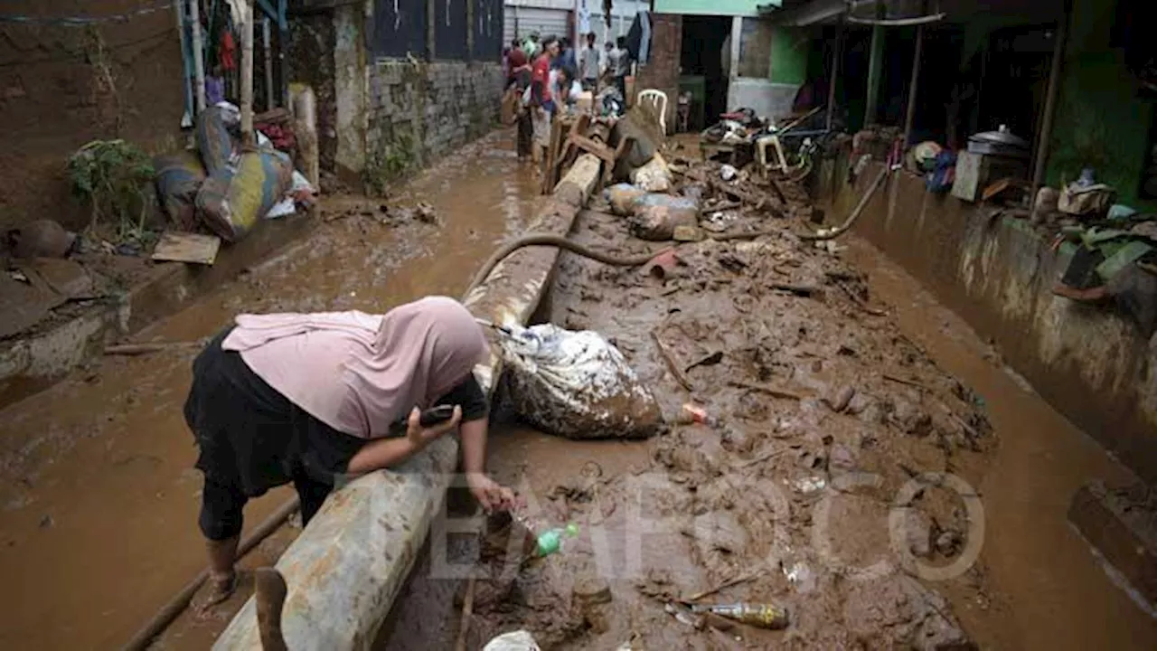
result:
[[[331,427],[361,438],[388,433],[466,379],[487,352],[470,312],[428,297],[384,315],[362,312],[242,314],[221,348],[281,395]]]

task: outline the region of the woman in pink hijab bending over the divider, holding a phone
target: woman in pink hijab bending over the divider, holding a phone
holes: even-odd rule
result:
[[[193,361],[185,401],[205,474],[200,527],[212,593],[236,586],[242,507],[293,482],[302,522],[337,477],[395,466],[455,429],[471,492],[486,511],[514,493],[486,476],[486,395],[471,370],[487,353],[481,327],[458,301],[428,297],[384,315],[361,312],[244,314]],[[454,405],[423,427],[420,412]],[[392,434],[392,436],[391,436]]]

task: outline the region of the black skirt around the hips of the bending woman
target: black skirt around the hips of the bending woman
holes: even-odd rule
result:
[[[296,477],[333,485],[367,439],[318,420],[253,373],[241,353],[222,350],[231,330],[193,360],[185,422],[200,447],[197,468],[249,497]]]

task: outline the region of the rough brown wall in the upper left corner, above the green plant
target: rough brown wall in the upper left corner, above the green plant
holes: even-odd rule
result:
[[[177,19],[170,7],[123,21],[66,24],[71,16],[132,13],[131,0],[8,0],[0,13],[0,231],[52,218],[82,227],[65,159],[94,139],[126,138],[149,152],[175,148],[184,110]]]

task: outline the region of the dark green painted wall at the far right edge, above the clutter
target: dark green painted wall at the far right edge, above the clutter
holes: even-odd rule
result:
[[[1121,203],[1152,210],[1137,200],[1154,103],[1142,98],[1123,54],[1110,45],[1115,2],[1076,0],[1057,95],[1047,182],[1073,181],[1092,167],[1097,178],[1117,188]]]

